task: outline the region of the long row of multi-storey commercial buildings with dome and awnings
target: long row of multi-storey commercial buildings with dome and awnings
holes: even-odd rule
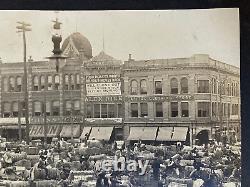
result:
[[[28,60],[30,137],[200,143],[240,138],[240,71],[208,55],[122,62],[73,33],[55,62]],[[23,63],[1,63],[0,133],[25,131]]]

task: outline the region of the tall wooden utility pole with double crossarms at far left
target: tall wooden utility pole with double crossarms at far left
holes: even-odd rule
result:
[[[29,144],[29,112],[28,112],[28,89],[27,89],[27,64],[26,64],[26,37],[25,33],[31,31],[31,25],[25,22],[17,22],[19,25],[16,27],[17,32],[23,33],[23,66],[24,66],[24,105],[25,105],[25,124],[26,124],[26,142]]]

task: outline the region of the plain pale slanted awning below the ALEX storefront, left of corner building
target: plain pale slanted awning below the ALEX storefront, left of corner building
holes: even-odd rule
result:
[[[92,127],[89,140],[109,140],[114,127]]]

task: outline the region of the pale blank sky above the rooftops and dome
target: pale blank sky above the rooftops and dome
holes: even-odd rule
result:
[[[93,56],[104,50],[125,61],[185,58],[209,54],[240,66],[239,9],[158,11],[0,11],[0,57],[3,62],[23,59],[22,34],[17,21],[31,24],[26,33],[27,56],[46,60],[52,55],[52,20],[62,22],[65,39],[80,32],[88,38]],[[103,45],[104,43],[104,45]],[[104,47],[103,47],[104,46]]]

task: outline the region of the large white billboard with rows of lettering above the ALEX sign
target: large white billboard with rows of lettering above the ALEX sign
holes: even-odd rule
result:
[[[121,95],[120,75],[87,75],[86,91],[87,96]]]

